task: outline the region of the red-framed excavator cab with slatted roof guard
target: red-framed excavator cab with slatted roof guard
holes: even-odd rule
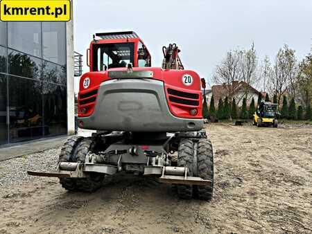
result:
[[[87,50],[90,71],[151,66],[148,49],[135,32],[96,33]]]

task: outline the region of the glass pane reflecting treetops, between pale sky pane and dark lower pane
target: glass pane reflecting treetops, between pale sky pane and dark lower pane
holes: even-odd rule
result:
[[[20,75],[26,78],[39,79],[41,71],[40,59],[19,53],[17,51],[8,50],[8,66],[9,73],[12,75]]]

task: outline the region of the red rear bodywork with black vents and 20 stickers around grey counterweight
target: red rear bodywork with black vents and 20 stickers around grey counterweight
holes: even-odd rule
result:
[[[108,77],[109,71],[126,71],[126,69],[88,72],[80,78],[79,117],[90,116],[94,111],[98,87],[102,82],[112,80]],[[135,67],[133,71],[153,71],[153,79],[164,82],[164,92],[171,114],[180,118],[202,118],[200,77],[195,71],[164,70],[155,67]]]

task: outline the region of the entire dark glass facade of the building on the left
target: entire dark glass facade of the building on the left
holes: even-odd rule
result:
[[[0,21],[0,146],[67,134],[65,22]]]

